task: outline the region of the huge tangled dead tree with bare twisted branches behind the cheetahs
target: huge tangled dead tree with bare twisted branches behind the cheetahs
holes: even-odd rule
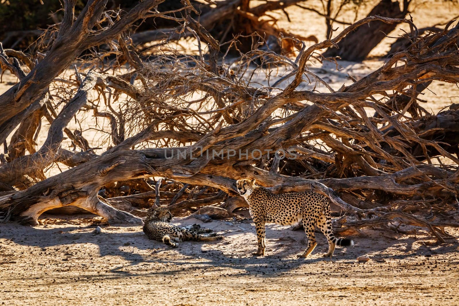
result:
[[[1,156],[3,221],[36,224],[44,211],[78,206],[112,222],[140,223],[139,217],[122,210],[138,213],[133,207],[145,207],[157,196],[151,178],[162,177],[172,183],[163,185],[159,202],[178,213],[211,205],[219,208],[202,209],[202,213],[216,214],[221,208],[231,217],[242,206],[234,197],[226,205],[221,202],[235,195],[235,179],[255,178],[273,192],[313,190],[327,195],[336,207],[355,217],[340,230],[414,224],[441,240],[444,227],[458,225],[452,216],[457,209],[459,160],[453,154],[458,141],[448,136],[457,131],[457,110],[452,106],[435,116],[406,116],[408,105],[416,100],[416,85],[432,80],[458,83],[458,51],[451,50],[459,36],[458,25],[419,36],[409,20],[367,17],[331,40],[303,47],[296,61],[276,55],[288,72],[278,76],[266,71],[271,85],[260,86],[252,79],[252,57],[242,53],[233,63],[225,58],[218,61],[218,56],[224,56],[220,44],[190,16],[186,24],[196,33],[198,55],[168,50],[149,61],[143,59],[129,37],[120,33],[145,14],[161,16],[149,11],[155,3],[141,2],[114,21],[102,17],[102,2],[90,1],[76,20],[73,15],[65,18],[59,33],[69,34],[56,39],[38,64],[26,55],[0,51],[2,67],[20,79],[0,95],[6,106],[18,106],[8,108],[2,117],[3,127],[12,125],[9,132],[3,130],[3,140],[17,126],[21,130],[11,138],[14,143],[6,145],[7,151],[14,150]],[[67,14],[72,12],[69,5]],[[70,31],[81,28],[85,20],[94,25],[86,25],[88,34]],[[308,68],[308,62],[320,58],[321,50],[373,21],[409,23],[413,43],[339,90]],[[69,78],[68,71],[67,76],[59,73],[79,53],[55,55],[53,50],[59,50],[60,41],[74,39],[81,41],[79,53],[84,46],[113,40],[105,50],[80,58],[95,68],[77,67],[74,78]],[[115,60],[110,59],[112,54]],[[37,70],[46,58],[56,63],[47,70],[50,74]],[[107,59],[110,69],[105,67]],[[26,68],[21,62],[32,63],[30,72],[22,70]],[[127,72],[121,69],[125,62],[130,66]],[[321,86],[314,87],[313,81]],[[308,82],[310,87],[298,89]],[[68,99],[59,106],[59,101],[49,100],[49,92]],[[408,104],[388,103],[399,95],[411,97]],[[32,96],[35,100],[26,99]],[[115,100],[118,108],[112,105]],[[53,105],[57,111],[51,111]],[[62,146],[65,133],[75,139],[74,144],[85,147],[84,131],[77,135],[67,128],[77,111],[110,122],[106,127],[110,137],[101,143],[102,149],[77,152]],[[32,133],[39,129],[35,117],[50,121],[48,138],[38,150]],[[453,164],[434,164],[435,156]],[[71,169],[47,178],[44,170],[53,163]],[[116,195],[113,189],[123,189],[123,197],[104,199]]]

